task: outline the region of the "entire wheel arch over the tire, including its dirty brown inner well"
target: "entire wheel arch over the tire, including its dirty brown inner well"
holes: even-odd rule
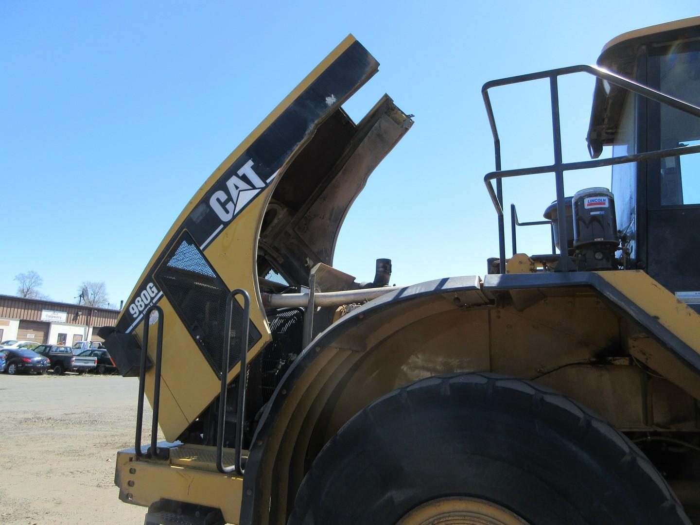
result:
[[[290,367],[253,437],[241,523],[284,523],[304,473],[323,444],[356,412],[389,391],[452,371],[491,370],[523,377],[519,363],[498,362],[500,342],[493,339],[492,330],[503,330],[498,323],[504,321],[498,318],[509,308],[503,304],[517,305],[528,294],[540,294],[538,290],[598,304],[586,321],[598,332],[587,335],[589,342],[603,349],[612,337],[631,341],[633,356],[700,398],[700,316],[644,272],[489,275],[484,281],[467,276],[409,286],[342,317]],[[510,306],[512,314],[519,314],[517,307]],[[642,330],[623,334],[620,317]],[[405,346],[397,336],[402,330]],[[452,346],[456,342],[462,345]],[[440,350],[432,356],[440,356],[440,361],[431,363],[425,349],[433,346]],[[517,342],[510,353],[512,349]],[[567,351],[561,352],[563,363],[570,360]]]

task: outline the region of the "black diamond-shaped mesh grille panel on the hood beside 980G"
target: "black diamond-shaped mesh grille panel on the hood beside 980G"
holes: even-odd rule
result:
[[[221,374],[226,297],[225,286],[188,232],[184,232],[155,272],[155,280],[177,311],[185,327],[214,372]],[[233,303],[231,353],[228,371],[238,363],[241,351],[243,308]],[[248,349],[258,342],[260,332],[248,327]]]

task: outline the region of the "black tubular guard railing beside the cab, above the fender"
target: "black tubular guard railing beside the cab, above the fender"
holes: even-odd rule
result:
[[[594,167],[612,166],[617,164],[625,164],[626,162],[639,162],[643,160],[652,160],[658,158],[666,158],[675,155],[689,155],[691,153],[699,153],[700,146],[690,146],[681,148],[671,148],[666,150],[652,151],[647,153],[638,153],[635,155],[625,155],[624,157],[616,157],[603,160],[587,160],[582,162],[567,162],[564,163],[561,158],[561,128],[559,123],[559,88],[557,86],[557,78],[563,75],[572,73],[589,73],[596,78],[606,80],[611,84],[623,87],[626,90],[640,94],[641,96],[671,106],[674,109],[689,113],[692,116],[700,117],[700,108],[693,104],[688,104],[680,99],[671,97],[668,94],[647,87],[643,84],[629,80],[615,73],[597,66],[579,65],[568,66],[559,69],[549,69],[548,71],[540,71],[539,73],[529,73],[526,75],[512,76],[501,78],[499,80],[491,80],[482,87],[482,98],[486,106],[486,114],[489,118],[491,126],[491,134],[493,134],[493,151],[496,156],[496,171],[484,176],[484,184],[489,192],[493,206],[498,214],[498,252],[500,256],[500,273],[505,274],[505,225],[503,223],[503,182],[502,179],[512,176],[530,175],[539,173],[554,173],[556,176],[556,210],[559,217],[565,217],[564,195],[563,195],[563,172],[573,171],[576,169],[589,169]],[[500,139],[496,128],[496,118],[493,116],[491,107],[491,99],[489,98],[489,89],[502,85],[510,85],[515,83],[529,82],[531,80],[541,80],[549,78],[549,92],[552,106],[552,136],[554,142],[554,164],[548,166],[538,166],[524,169],[509,169],[501,170],[500,162]],[[496,190],[493,190],[492,180],[496,180]],[[566,232],[566,221],[559,221],[559,245],[568,246],[568,232]],[[568,271],[572,269],[571,260],[564,256],[561,257],[557,271]]]

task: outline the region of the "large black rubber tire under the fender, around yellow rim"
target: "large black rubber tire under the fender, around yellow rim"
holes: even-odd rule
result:
[[[393,525],[444,496],[529,524],[689,524],[650,461],[566,396],[531,381],[431,377],[356,414],[323,447],[290,525]]]

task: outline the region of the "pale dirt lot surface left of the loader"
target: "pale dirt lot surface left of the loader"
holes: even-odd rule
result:
[[[146,508],[120,502],[114,485],[138,390],[120,376],[0,374],[0,523],[142,524]]]

